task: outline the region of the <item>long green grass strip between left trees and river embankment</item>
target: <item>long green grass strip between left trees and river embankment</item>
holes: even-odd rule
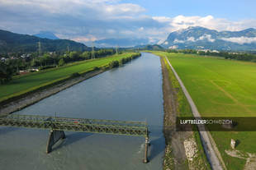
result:
[[[35,72],[27,76],[15,77],[10,83],[0,85],[0,102],[8,99],[14,95],[23,94],[30,90],[35,90],[42,85],[48,85],[56,80],[69,77],[74,72],[85,72],[92,70],[94,67],[101,67],[107,65],[114,60],[121,60],[123,57],[130,57],[135,53],[124,53],[118,56],[103,57],[100,59],[83,61],[70,64],[66,67],[59,67],[49,71]]]

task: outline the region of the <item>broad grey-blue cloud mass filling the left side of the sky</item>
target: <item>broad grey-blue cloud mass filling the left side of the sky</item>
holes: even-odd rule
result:
[[[94,39],[145,37],[160,24],[144,11],[118,0],[0,0],[0,29],[21,34],[49,30],[83,42],[92,34]]]

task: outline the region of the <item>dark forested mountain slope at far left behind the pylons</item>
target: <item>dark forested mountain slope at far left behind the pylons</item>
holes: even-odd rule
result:
[[[41,44],[42,51],[84,51],[88,47],[68,39],[41,39],[28,34],[16,34],[6,30],[0,30],[0,53],[10,52],[36,52],[38,43]]]

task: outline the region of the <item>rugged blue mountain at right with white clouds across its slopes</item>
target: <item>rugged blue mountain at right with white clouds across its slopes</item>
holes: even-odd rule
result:
[[[216,50],[255,50],[256,30],[217,31],[195,26],[170,33],[161,44],[164,48]]]

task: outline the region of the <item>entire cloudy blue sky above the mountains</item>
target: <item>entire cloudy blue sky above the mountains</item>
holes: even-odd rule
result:
[[[0,0],[0,29],[51,31],[85,44],[111,38],[157,43],[188,26],[256,28],[254,7],[254,0]]]

